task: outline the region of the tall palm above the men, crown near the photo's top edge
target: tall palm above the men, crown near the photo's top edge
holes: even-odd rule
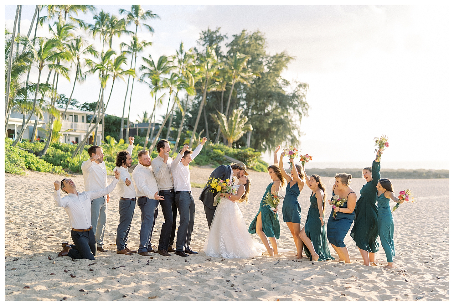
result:
[[[120,12],[120,14],[126,14],[126,25],[130,25],[131,23],[134,23],[134,25],[136,25],[136,29],[134,31],[134,36],[133,36],[133,37],[136,37],[136,39],[137,39],[137,29],[139,26],[141,27],[142,21],[152,20],[152,19],[156,19],[156,18],[160,19],[160,17],[156,14],[153,14],[153,12],[151,10],[144,11],[140,5],[131,5],[131,11],[120,9],[119,12]],[[150,33],[154,33],[154,29],[151,26],[146,25],[146,24],[143,24],[143,26],[145,26]],[[151,42],[149,44],[151,45]],[[131,42],[131,46],[132,45],[133,44]],[[131,67],[130,68],[133,68],[133,58],[134,57],[137,58],[137,53],[131,54]],[[135,69],[136,69],[136,66],[135,66],[135,61],[134,61],[134,70]],[[134,82],[134,80],[133,80],[133,82]],[[124,110],[126,108],[126,99],[128,97],[128,91],[129,91],[129,77],[128,77],[128,84],[126,86],[126,94],[124,95],[123,113],[121,115],[120,136],[119,137],[123,137]],[[132,91],[133,91],[133,89],[131,89],[131,96],[132,96]],[[131,100],[131,99],[129,99],[129,100]],[[131,106],[131,102],[129,102],[129,106]],[[129,120],[129,114],[128,114],[128,120]],[[129,131],[129,123],[128,123],[128,131]],[[128,138],[128,132],[126,133],[126,138]],[[147,140],[145,140],[145,142],[147,142]]]

